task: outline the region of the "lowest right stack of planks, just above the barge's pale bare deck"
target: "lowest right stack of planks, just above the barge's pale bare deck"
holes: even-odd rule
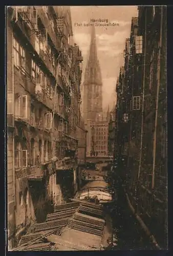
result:
[[[68,226],[76,230],[96,234],[97,236],[102,237],[104,223],[104,220],[76,213],[73,218],[69,220]]]

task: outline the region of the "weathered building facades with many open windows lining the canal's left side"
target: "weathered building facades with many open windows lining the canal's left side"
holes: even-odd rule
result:
[[[70,9],[68,7],[54,8],[49,6],[35,7],[34,11],[33,8],[31,6],[8,7],[7,9],[8,237],[10,239],[10,236],[15,233],[13,240],[16,240],[16,242],[18,242],[23,232],[32,231],[33,223],[37,219],[39,221],[44,219],[44,215],[49,210],[46,209],[47,203],[53,202],[54,205],[57,205],[66,202],[62,195],[61,184],[57,182],[55,167],[52,168],[50,160],[54,158],[62,159],[64,150],[68,147],[77,149],[76,138],[69,139],[69,136],[72,132],[75,132],[78,122],[81,81],[79,63],[82,61],[82,57],[79,47],[73,47],[71,41],[68,40],[72,36],[71,20],[69,19]],[[27,18],[26,12],[28,12]],[[38,15],[37,23],[36,19],[31,18],[30,15],[34,12]],[[47,12],[49,15],[47,15]],[[61,15],[64,17],[62,24],[56,26],[55,20],[53,23],[51,22],[54,14],[57,14],[58,17],[61,17]],[[57,20],[59,22],[58,18]],[[38,47],[38,37],[36,36],[39,24],[42,24],[41,26],[45,28],[45,30],[40,30],[41,33],[43,31],[45,33],[45,39],[40,40],[40,47]],[[20,45],[21,51],[20,49],[18,50],[19,55],[14,50],[14,47],[17,48],[17,44],[12,39],[12,36],[15,37]],[[61,53],[58,60],[57,75],[55,62],[61,49],[61,36],[64,52]],[[43,44],[42,49],[41,43]],[[22,52],[25,53],[25,56],[23,55],[24,61],[21,56]],[[19,56],[18,59],[16,56]],[[37,66],[35,66],[34,71],[35,76],[37,78],[40,77],[39,81],[37,78],[32,77],[32,60]],[[23,65],[24,62],[25,67]],[[68,70],[68,72],[64,70]],[[40,74],[42,74],[42,77]],[[47,77],[48,87],[45,87],[45,77]],[[14,83],[12,83],[13,79]],[[74,84],[76,84],[77,88],[75,88]],[[73,100],[71,100],[71,90],[73,91]],[[51,94],[52,96],[49,96]],[[23,97],[24,100],[22,98],[21,101],[21,96],[27,96],[27,98]],[[60,96],[62,96],[61,101]],[[25,99],[27,104],[25,104]],[[32,106],[34,107],[33,114],[31,111]],[[25,109],[26,111],[24,111]],[[46,121],[46,114],[52,111],[54,112],[52,116],[53,133],[51,133],[51,118]],[[62,120],[63,125],[61,126]],[[72,123],[72,120],[75,120],[75,122]],[[23,163],[25,159],[23,156],[25,153],[22,145],[23,138],[26,138],[27,142],[25,147],[25,150],[27,150],[25,166]],[[31,139],[34,139],[33,150]],[[46,145],[44,145],[45,141],[47,142]],[[41,142],[40,147],[39,142]],[[49,148],[48,142],[50,142]],[[15,166],[12,160],[14,160]],[[41,182],[39,185],[35,185],[37,175],[40,177],[45,175],[47,177],[44,188],[41,188],[42,190],[39,190],[39,186],[42,186]],[[76,175],[76,166],[74,166],[72,186],[73,183],[76,186]],[[30,177],[33,177],[32,181]],[[34,194],[38,194],[36,199],[34,199]],[[9,241],[9,243],[11,244],[10,246],[14,246],[13,242]]]

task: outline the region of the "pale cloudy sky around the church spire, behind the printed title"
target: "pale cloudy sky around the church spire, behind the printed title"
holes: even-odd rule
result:
[[[132,17],[138,16],[137,6],[73,6],[71,7],[73,39],[79,45],[83,56],[83,71],[87,63],[90,47],[91,19],[107,19],[115,26],[96,27],[97,55],[103,82],[103,109],[110,110],[116,102],[116,79],[123,65],[125,39],[131,32]],[[99,22],[103,24],[104,22]],[[117,25],[118,24],[118,25]]]

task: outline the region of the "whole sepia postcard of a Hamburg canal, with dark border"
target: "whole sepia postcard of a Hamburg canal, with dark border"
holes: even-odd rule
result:
[[[7,250],[165,250],[166,6],[6,6]]]

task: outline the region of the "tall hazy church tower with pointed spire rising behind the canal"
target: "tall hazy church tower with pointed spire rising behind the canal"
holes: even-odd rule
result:
[[[102,77],[97,57],[95,26],[91,27],[91,43],[83,82],[83,117],[95,121],[102,113]]]

